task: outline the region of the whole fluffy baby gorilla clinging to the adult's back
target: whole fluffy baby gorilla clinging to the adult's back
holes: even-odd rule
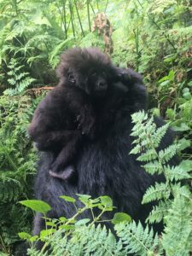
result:
[[[110,90],[119,92],[115,93],[118,97],[127,89],[114,83],[124,75],[96,48],[67,50],[57,74],[60,82],[38,105],[28,133],[39,150],[54,154],[49,174],[67,180],[74,173],[72,160],[83,137],[94,139],[96,135],[92,103],[110,95]]]

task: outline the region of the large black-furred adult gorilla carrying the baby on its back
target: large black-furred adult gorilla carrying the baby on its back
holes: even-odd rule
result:
[[[92,62],[86,61],[90,67],[94,66]],[[98,61],[101,61],[100,55]],[[77,65],[81,67],[80,62]],[[59,196],[76,197],[77,193],[93,197],[109,195],[113,199],[113,205],[117,207],[115,211],[127,212],[133,219],[140,219],[142,222],[151,210],[151,205],[141,204],[143,194],[150,185],[162,180],[163,177],[151,176],[144,172],[136,160],[137,157],[129,154],[133,140],[130,136],[131,113],[140,109],[147,110],[147,92],[138,73],[118,68],[115,72],[124,78],[128,90],[120,96],[118,104],[115,96],[117,87],[108,91],[102,99],[91,98],[96,114],[96,131],[99,133],[95,140],[84,140],[83,148],[79,149],[76,160],[79,177],[67,181],[50,177],[49,169],[55,156],[51,153],[44,153],[41,156],[35,192],[38,199],[47,201],[52,207],[48,213],[50,218],[72,217],[75,213],[73,204],[61,200]],[[113,74],[110,75],[113,77]],[[156,123],[158,126],[162,125],[160,119],[157,119]],[[160,148],[170,143],[172,132],[168,131]],[[108,212],[102,218],[112,216],[113,212]],[[90,212],[84,212],[83,217],[91,218]],[[37,214],[34,220],[34,234],[39,234],[42,229],[44,219]]]

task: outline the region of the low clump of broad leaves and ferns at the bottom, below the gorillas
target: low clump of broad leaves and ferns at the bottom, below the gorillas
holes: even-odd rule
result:
[[[46,255],[44,250],[50,246],[52,248],[51,255],[119,255],[125,256],[128,253],[136,253],[136,255],[154,255],[154,249],[158,245],[158,236],[154,237],[153,230],[148,227],[143,229],[142,224],[131,222],[129,215],[117,212],[114,214],[112,223],[115,224],[114,229],[117,231],[119,240],[117,241],[110,230],[100,223],[100,218],[104,212],[112,211],[112,200],[108,196],[100,196],[91,199],[90,195],[78,195],[84,207],[77,209],[77,213],[72,218],[46,219],[47,230],[42,230],[40,236],[30,236],[24,232],[20,233],[22,239],[26,239],[31,244],[34,241],[44,241],[44,247],[38,252],[34,244],[28,250],[28,255]],[[61,196],[65,201],[74,204],[76,200],[69,196]],[[45,207],[49,211],[47,204],[43,201],[21,201],[21,204],[44,213]],[[93,208],[98,208],[101,212],[95,216]],[[78,220],[79,215],[90,210],[93,214],[92,219],[83,218]],[[109,220],[106,220],[108,222]],[[97,225],[96,225],[97,224]]]

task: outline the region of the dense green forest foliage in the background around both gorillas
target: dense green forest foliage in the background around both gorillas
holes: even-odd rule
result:
[[[189,199],[188,187],[181,185],[180,180],[187,179],[190,185],[189,171],[192,169],[191,20],[190,0],[0,0],[2,253],[11,253],[15,242],[20,240],[19,231],[31,230],[31,212],[16,202],[32,198],[31,184],[37,156],[26,127],[39,96],[44,86],[55,85],[54,68],[63,50],[75,45],[95,45],[108,52],[120,67],[133,67],[143,73],[150,108],[168,119],[177,131],[180,154],[188,162],[183,162],[179,168],[160,168],[158,158],[151,163],[150,157],[143,156],[143,160],[149,160],[145,164],[147,172],[163,172],[166,180],[174,183],[168,190],[168,182],[149,188],[143,202],[154,200],[152,192],[157,193],[154,195],[160,203],[148,221],[153,223],[164,218],[166,230],[162,246],[167,255],[189,255],[191,230],[187,226],[189,222],[191,224],[191,197]],[[172,146],[172,153],[176,148]],[[169,152],[162,153],[161,157],[169,158]],[[158,189],[163,187],[167,194],[158,194]],[[172,195],[172,202],[167,200],[168,194]],[[166,212],[163,211],[165,207]],[[87,230],[87,234],[90,231]],[[122,232],[119,234],[125,234],[125,230]],[[172,244],[174,240],[176,242]],[[180,252],[182,243],[186,251]],[[180,254],[174,254],[176,248]],[[148,255],[153,254],[149,251]]]

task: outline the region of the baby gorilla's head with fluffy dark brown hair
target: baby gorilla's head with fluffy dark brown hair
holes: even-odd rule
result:
[[[93,97],[105,96],[108,91],[112,63],[108,55],[97,48],[74,48],[61,55],[56,72],[61,82],[66,79]],[[65,83],[63,83],[65,84]]]

